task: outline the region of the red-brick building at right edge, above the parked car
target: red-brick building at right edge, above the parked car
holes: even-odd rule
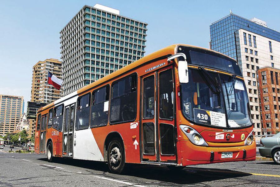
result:
[[[280,132],[280,69],[263,67],[258,71],[262,128],[266,134]]]

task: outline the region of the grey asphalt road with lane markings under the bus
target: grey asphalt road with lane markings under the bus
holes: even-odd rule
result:
[[[123,175],[102,162],[56,159],[0,150],[0,186],[280,186],[280,165],[268,161],[188,166],[129,164]]]

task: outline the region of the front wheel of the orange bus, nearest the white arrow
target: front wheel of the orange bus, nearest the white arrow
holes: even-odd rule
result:
[[[118,139],[110,141],[107,162],[111,173],[120,174],[124,169],[124,148]]]

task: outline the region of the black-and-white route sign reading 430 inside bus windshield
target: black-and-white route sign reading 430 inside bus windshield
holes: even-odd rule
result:
[[[194,108],[194,121],[219,127],[226,127],[226,114]]]

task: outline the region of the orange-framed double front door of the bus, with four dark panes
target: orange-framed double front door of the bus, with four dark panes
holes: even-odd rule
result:
[[[142,161],[176,163],[172,67],[142,77]]]

